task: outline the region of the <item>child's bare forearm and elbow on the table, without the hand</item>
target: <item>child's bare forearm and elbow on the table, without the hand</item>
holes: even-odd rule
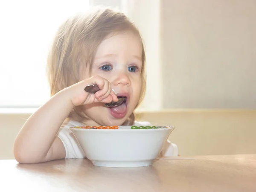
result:
[[[15,159],[19,163],[39,163],[65,157],[64,145],[56,134],[73,109],[69,100],[65,91],[61,91],[29,117],[14,144]]]

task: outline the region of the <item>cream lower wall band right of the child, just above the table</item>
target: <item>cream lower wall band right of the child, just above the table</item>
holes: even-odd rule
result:
[[[143,112],[153,125],[174,125],[169,140],[179,154],[221,155],[256,153],[256,111],[167,110]]]

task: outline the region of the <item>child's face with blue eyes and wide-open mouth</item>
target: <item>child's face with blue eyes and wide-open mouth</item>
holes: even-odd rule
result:
[[[132,32],[118,33],[99,45],[91,75],[99,75],[112,85],[117,96],[126,96],[126,102],[116,108],[104,103],[84,105],[84,113],[91,119],[87,125],[122,125],[134,111],[142,88],[142,43]],[[83,79],[89,77],[87,70]]]

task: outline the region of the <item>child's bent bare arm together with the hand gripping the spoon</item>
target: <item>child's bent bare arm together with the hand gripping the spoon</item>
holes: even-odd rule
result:
[[[87,93],[84,91],[87,84],[98,84],[101,90],[95,95]],[[66,155],[65,148],[56,135],[70,111],[78,105],[117,100],[109,82],[99,76],[61,90],[25,122],[15,139],[15,159],[19,163],[63,159]]]

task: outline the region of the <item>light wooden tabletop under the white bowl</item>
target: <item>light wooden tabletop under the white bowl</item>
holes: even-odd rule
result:
[[[0,160],[1,192],[256,192],[256,154],[175,157],[141,168],[87,159],[18,164]]]

